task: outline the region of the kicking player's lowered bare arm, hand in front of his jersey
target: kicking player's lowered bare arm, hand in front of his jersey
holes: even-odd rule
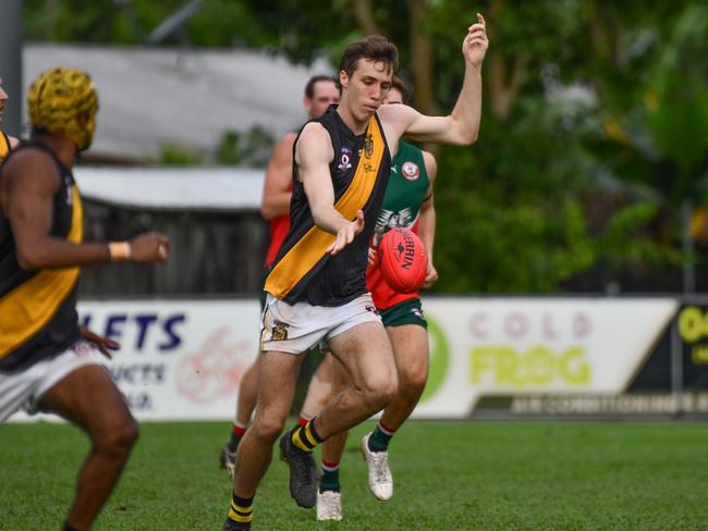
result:
[[[318,123],[306,125],[296,144],[295,162],[300,169],[300,177],[303,181],[315,224],[337,236],[334,243],[327,249],[328,252],[335,255],[362,232],[364,213],[359,210],[356,220],[351,221],[343,218],[334,208],[334,188],[329,173],[329,163],[333,157],[329,133],[325,127]]]

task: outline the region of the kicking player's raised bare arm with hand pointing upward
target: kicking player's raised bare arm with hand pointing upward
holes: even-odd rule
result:
[[[416,140],[467,146],[477,139],[481,119],[481,62],[488,40],[485,18],[477,13],[477,23],[468,28],[462,45],[465,76],[452,114],[426,116],[407,106],[382,106],[381,119],[390,138],[407,135]]]

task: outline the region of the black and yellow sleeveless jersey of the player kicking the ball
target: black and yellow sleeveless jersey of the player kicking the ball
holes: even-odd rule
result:
[[[293,163],[290,231],[265,289],[289,304],[307,301],[313,306],[341,306],[366,293],[367,249],[391,174],[391,153],[376,114],[362,135],[352,133],[335,106],[313,122],[319,122],[332,141],[334,157],[329,170],[334,208],[347,220],[354,220],[356,211],[363,210],[364,230],[338,255],[327,254],[334,235],[315,225],[303,183],[297,178],[297,166]]]

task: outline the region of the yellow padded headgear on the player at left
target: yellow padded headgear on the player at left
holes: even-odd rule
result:
[[[78,69],[56,67],[42,72],[27,91],[27,112],[33,128],[71,138],[80,151],[90,146],[96,128],[98,95],[90,76]],[[82,127],[77,116],[85,113]]]

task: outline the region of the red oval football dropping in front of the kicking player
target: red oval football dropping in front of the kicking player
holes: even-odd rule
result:
[[[425,281],[428,254],[423,242],[408,229],[391,229],[379,243],[379,269],[391,288],[417,292]]]

